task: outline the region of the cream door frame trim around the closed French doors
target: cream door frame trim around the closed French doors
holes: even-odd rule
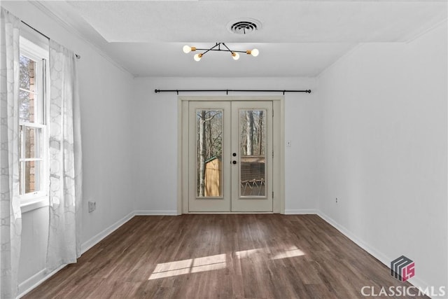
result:
[[[177,214],[190,214],[188,211],[188,106],[195,101],[244,101],[263,102],[272,101],[274,118],[272,122],[272,145],[274,149],[273,185],[274,198],[272,212],[285,213],[285,122],[284,122],[284,96],[178,96],[178,127],[177,127]],[[228,212],[225,212],[228,214]],[[243,212],[230,212],[241,214]],[[252,213],[252,212],[250,212]],[[209,214],[207,212],[207,214]],[[219,214],[224,214],[220,212]]]

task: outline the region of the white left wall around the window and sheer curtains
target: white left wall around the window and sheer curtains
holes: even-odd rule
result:
[[[77,62],[84,174],[81,242],[88,246],[92,237],[134,211],[130,162],[133,77],[29,2],[2,1],[1,6],[81,55]],[[87,213],[87,200],[97,202],[97,210],[91,214]],[[48,207],[22,214],[20,291],[43,274],[47,238]]]

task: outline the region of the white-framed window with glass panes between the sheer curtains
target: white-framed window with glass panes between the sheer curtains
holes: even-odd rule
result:
[[[48,50],[20,39],[19,172],[22,204],[48,202]]]

